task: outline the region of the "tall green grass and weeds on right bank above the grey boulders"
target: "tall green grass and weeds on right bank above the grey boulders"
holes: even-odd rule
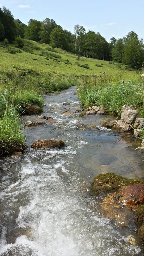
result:
[[[77,92],[85,107],[102,105],[106,112],[121,115],[123,105],[134,105],[144,116],[144,79],[137,74],[128,78],[122,72],[86,77]]]

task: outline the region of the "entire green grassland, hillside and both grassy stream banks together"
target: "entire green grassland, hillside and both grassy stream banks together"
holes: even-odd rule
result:
[[[103,105],[107,112],[120,114],[124,103],[134,104],[144,116],[144,80],[123,64],[78,57],[26,39],[22,49],[0,43],[0,60],[1,154],[24,145],[19,115],[26,104],[42,107],[44,92],[77,85],[85,106]]]

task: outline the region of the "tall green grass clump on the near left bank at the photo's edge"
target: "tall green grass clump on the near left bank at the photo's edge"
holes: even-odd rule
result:
[[[18,106],[7,106],[0,116],[0,154],[21,150],[25,138],[19,124]]]

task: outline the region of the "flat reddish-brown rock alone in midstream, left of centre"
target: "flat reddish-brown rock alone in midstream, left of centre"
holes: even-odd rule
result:
[[[32,145],[31,148],[61,148],[64,146],[63,140],[57,140],[57,139],[42,139],[42,140],[36,140]]]

